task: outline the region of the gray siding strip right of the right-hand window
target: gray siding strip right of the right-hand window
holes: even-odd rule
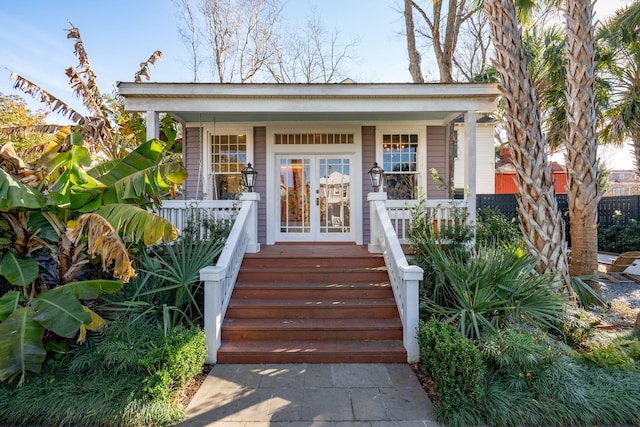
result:
[[[449,177],[449,144],[447,126],[427,126],[427,199],[448,199],[447,189],[442,183],[431,179],[432,168],[445,181]],[[441,188],[438,188],[441,187]]]

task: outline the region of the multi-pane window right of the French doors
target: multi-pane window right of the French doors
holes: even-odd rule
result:
[[[390,200],[417,198],[418,134],[383,134],[382,169],[385,172],[385,191]]]

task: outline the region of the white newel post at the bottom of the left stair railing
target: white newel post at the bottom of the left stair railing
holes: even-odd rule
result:
[[[207,363],[218,361],[218,349],[222,339],[222,290],[227,271],[224,267],[209,266],[200,270],[204,282],[204,335],[207,346]]]

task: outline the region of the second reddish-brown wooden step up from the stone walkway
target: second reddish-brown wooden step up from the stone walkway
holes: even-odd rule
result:
[[[402,322],[391,319],[225,319],[223,341],[402,340]]]

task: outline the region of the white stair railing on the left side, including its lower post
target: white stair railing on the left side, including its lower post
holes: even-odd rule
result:
[[[260,251],[257,242],[258,193],[243,193],[240,212],[233,223],[227,243],[214,266],[200,270],[204,282],[204,334],[207,363],[216,363],[220,348],[224,315],[242,265],[244,254]]]

